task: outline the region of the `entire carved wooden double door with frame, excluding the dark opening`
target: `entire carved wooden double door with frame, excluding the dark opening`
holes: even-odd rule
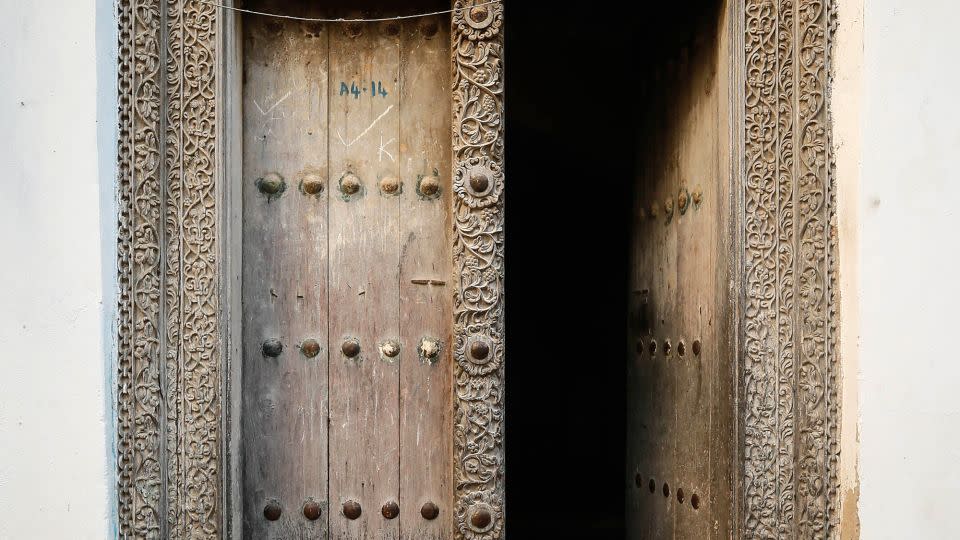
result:
[[[504,6],[381,1],[448,13],[117,2],[123,538],[504,536]],[[835,6],[700,4],[718,17],[636,49],[666,61],[632,216],[629,537],[830,537]]]

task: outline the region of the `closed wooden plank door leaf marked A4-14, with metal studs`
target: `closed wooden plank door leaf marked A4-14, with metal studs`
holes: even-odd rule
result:
[[[452,537],[449,32],[243,19],[244,538]]]

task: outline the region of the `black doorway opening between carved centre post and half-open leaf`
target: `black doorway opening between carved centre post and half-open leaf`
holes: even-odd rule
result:
[[[632,198],[638,126],[654,114],[644,88],[717,4],[507,6],[512,537],[625,537]]]

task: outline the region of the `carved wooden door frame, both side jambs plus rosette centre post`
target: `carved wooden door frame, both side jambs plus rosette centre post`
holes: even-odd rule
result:
[[[484,5],[462,9],[474,4]],[[503,5],[453,7],[453,519],[457,538],[494,540],[504,535]],[[732,0],[729,9],[732,35],[743,37],[731,50],[741,291],[731,511],[737,537],[833,537],[832,4]],[[230,396],[239,340],[229,312],[239,294],[230,210],[238,17],[207,0],[119,0],[118,23],[119,533],[238,537],[228,511],[238,496]],[[494,180],[482,193],[463,182],[478,169]],[[472,359],[475,340],[494,354]],[[488,525],[471,519],[478,512]]]

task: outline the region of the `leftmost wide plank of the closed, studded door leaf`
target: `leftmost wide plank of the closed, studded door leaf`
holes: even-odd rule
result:
[[[243,536],[320,539],[327,366],[326,351],[310,357],[307,342],[327,343],[327,36],[272,18],[249,18],[245,30],[243,178],[235,179],[244,205]],[[310,193],[314,182],[319,193]],[[264,347],[271,339],[282,344],[276,356]],[[320,519],[304,516],[308,502],[321,505]],[[271,505],[279,519],[267,519]]]

